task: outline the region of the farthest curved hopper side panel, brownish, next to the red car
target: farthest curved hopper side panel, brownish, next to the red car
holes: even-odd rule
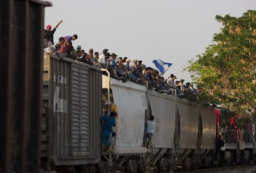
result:
[[[202,147],[213,149],[215,146],[216,116],[212,107],[200,108],[200,115],[203,124]]]

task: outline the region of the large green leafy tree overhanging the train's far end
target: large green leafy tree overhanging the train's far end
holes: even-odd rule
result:
[[[186,68],[202,99],[211,99],[222,107],[250,115],[256,109],[256,11],[248,10],[242,17],[216,15],[223,25],[220,33],[197,60]],[[198,100],[200,102],[200,98]]]

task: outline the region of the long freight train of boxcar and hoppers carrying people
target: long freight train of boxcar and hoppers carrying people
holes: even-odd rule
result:
[[[117,108],[113,150],[101,151],[100,116]],[[41,167],[59,172],[184,171],[249,163],[255,156],[255,127],[221,126],[221,108],[202,107],[147,86],[111,78],[109,71],[69,58],[44,55]],[[155,116],[151,148],[145,121]],[[216,138],[225,141],[216,153]],[[218,154],[218,158],[216,158]]]

